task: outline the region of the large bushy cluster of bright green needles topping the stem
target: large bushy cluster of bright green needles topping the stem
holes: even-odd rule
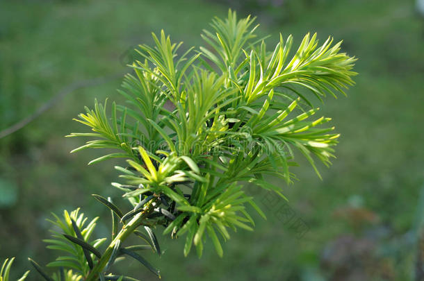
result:
[[[109,115],[106,103],[96,101],[76,120],[92,133],[70,135],[95,137],[74,151],[117,149],[90,164],[127,159],[128,167],[117,167],[124,184],[113,184],[134,207],[124,217],[143,211],[145,225],[186,235],[184,255],[193,244],[202,255],[206,234],[222,255],[230,228],[254,225],[246,203],[264,216],[243,191],[245,182],[283,196],[263,176],[291,182],[296,150],[314,169],[315,159],[328,165],[334,157],[339,135],[322,127],[331,119],[313,118],[313,99],[352,85],[355,59],[339,52],[340,42],[319,45],[309,34],[293,55],[291,36],[280,35],[268,51],[253,23],[229,11],[227,19],[213,20],[213,31],[204,31],[208,47],[182,54],[181,43],[163,31],[153,35],[155,46],[140,45],[143,60],[133,62],[122,84],[128,104],[113,103]]]

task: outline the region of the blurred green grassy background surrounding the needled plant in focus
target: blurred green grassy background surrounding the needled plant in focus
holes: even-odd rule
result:
[[[0,131],[72,83],[109,77],[0,139],[0,260],[16,256],[14,274],[29,267],[26,257],[46,264],[54,256],[41,242],[50,212],[82,207],[107,217],[93,193],[124,204],[110,185],[113,163],[87,167],[97,151],[69,153],[83,142],[63,137],[81,128],[72,118],[95,98],[120,100],[116,77],[129,71],[133,46],[152,42],[151,31],[199,46],[202,28],[229,7],[257,15],[270,44],[279,32],[296,43],[308,32],[344,40],[343,51],[359,58],[357,85],[321,106],[341,133],[333,166],[320,167],[323,180],[301,161],[293,169],[300,180],[279,183],[289,203],[251,190],[268,220],[234,233],[222,259],[210,245],[202,259],[184,258],[182,241],[159,235],[165,255],[149,258],[163,280],[418,280],[424,22],[414,1],[396,0],[0,1]],[[108,221],[98,228],[106,235]],[[156,280],[136,262],[130,271]]]

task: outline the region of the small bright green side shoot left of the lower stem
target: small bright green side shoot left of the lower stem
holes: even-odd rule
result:
[[[44,239],[43,241],[49,244],[47,248],[52,250],[59,250],[60,256],[56,258],[54,262],[47,264],[48,267],[56,268],[65,268],[65,269],[74,269],[74,272],[67,271],[65,275],[65,280],[81,280],[88,271],[90,271],[90,266],[86,261],[85,253],[83,248],[78,244],[73,243],[67,239],[64,235],[70,235],[72,237],[78,237],[72,225],[72,221],[76,224],[83,241],[86,241],[88,244],[92,245],[94,248],[99,248],[101,244],[106,241],[106,238],[95,239],[90,241],[92,232],[95,230],[96,221],[98,218],[88,221],[88,218],[84,216],[83,213],[79,213],[79,209],[68,213],[66,210],[63,212],[63,218],[53,214],[56,221],[51,221],[57,228],[60,229],[60,232],[56,230],[51,231],[51,239]],[[90,241],[90,242],[88,242]],[[95,255],[90,254],[91,259],[95,258]],[[60,281],[60,274],[54,275],[54,280]]]

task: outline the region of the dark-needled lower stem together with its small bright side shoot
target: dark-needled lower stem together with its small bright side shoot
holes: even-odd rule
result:
[[[113,225],[118,225],[118,222],[115,221],[115,216],[118,216],[121,221],[120,223],[123,223],[122,230],[120,234],[125,232],[127,230],[127,226],[131,223],[125,224],[127,219],[131,219],[133,216],[135,216],[138,212],[138,210],[133,210],[126,214],[125,216],[122,215],[122,211],[114,205],[110,199],[106,199],[102,196],[95,195],[95,198],[106,205],[109,209],[111,209],[112,215],[113,215]],[[145,201],[147,203],[147,201]],[[144,205],[144,204],[143,204]],[[149,205],[149,204],[146,204]],[[140,205],[142,207],[142,205]],[[133,214],[134,212],[134,214]],[[169,212],[168,212],[169,213]],[[131,215],[132,214],[132,215]],[[165,213],[166,214],[166,213]],[[40,275],[42,275],[43,279],[46,281],[82,281],[82,280],[88,280],[87,276],[92,273],[92,271],[95,271],[95,266],[97,266],[101,259],[104,258],[104,256],[107,257],[106,261],[107,264],[105,267],[102,267],[99,272],[96,272],[95,280],[129,280],[129,281],[138,281],[134,278],[130,278],[123,275],[113,275],[111,273],[111,266],[115,264],[115,262],[124,259],[122,255],[127,255],[129,257],[133,257],[134,259],[138,260],[143,266],[147,267],[152,273],[158,275],[160,277],[160,273],[157,269],[152,266],[147,260],[144,259],[139,253],[136,253],[140,250],[149,250],[152,249],[156,251],[160,255],[161,251],[158,246],[158,241],[156,239],[156,235],[154,234],[152,228],[149,228],[149,226],[145,225],[145,230],[147,232],[147,235],[143,232],[140,232],[139,230],[135,230],[133,232],[128,232],[128,234],[135,234],[136,236],[142,238],[147,244],[141,244],[141,245],[133,245],[129,247],[124,247],[121,244],[121,240],[119,238],[122,238],[122,235],[120,237],[117,237],[117,233],[115,230],[115,227],[113,226],[113,232],[115,232],[112,235],[112,242],[111,247],[113,248],[113,251],[110,256],[108,255],[102,255],[101,251],[99,250],[99,246],[106,241],[106,238],[102,239],[95,239],[90,241],[90,237],[92,233],[95,230],[96,221],[98,219],[92,219],[92,221],[88,222],[88,218],[84,216],[84,214],[79,213],[79,208],[72,211],[71,213],[67,212],[66,210],[63,212],[63,218],[59,218],[56,216],[56,214],[53,214],[56,221],[51,221],[51,223],[54,224],[56,229],[51,230],[52,235],[51,239],[44,239],[44,242],[49,244],[47,248],[52,250],[59,250],[60,254],[66,254],[66,255],[60,255],[56,258],[54,262],[50,262],[47,264],[47,267],[53,267],[58,269],[58,271],[54,272],[52,275],[47,273],[47,271],[44,271],[42,269],[42,266],[38,264],[37,262],[33,261],[32,259],[29,259],[33,267],[35,268]],[[127,219],[125,217],[127,216]],[[138,223],[136,223],[136,228],[140,226]],[[60,232],[56,231],[57,229],[60,230]],[[6,270],[8,272],[8,269]],[[51,276],[51,277],[50,277]]]

